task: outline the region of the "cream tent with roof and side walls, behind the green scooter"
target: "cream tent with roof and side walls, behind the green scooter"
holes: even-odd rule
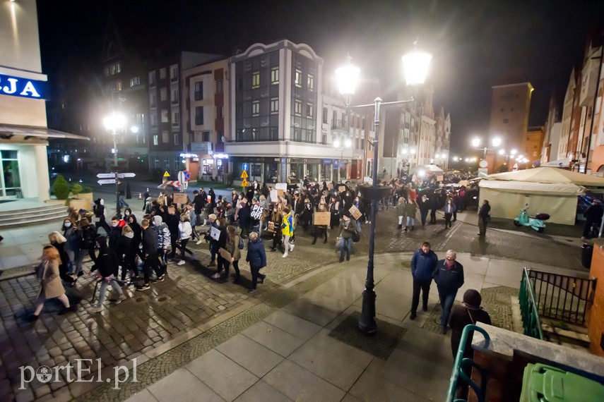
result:
[[[514,219],[528,204],[529,214],[550,214],[554,224],[574,225],[577,197],[586,187],[604,188],[604,178],[564,169],[540,167],[485,176],[480,205],[489,200],[491,216]]]

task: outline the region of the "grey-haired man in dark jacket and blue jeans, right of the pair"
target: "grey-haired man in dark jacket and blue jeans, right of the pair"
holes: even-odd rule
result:
[[[453,307],[457,290],[463,285],[463,265],[457,262],[456,258],[455,250],[447,250],[445,259],[437,263],[434,274],[432,274],[434,283],[437,284],[438,298],[442,309],[440,324],[443,334],[446,334],[449,314],[451,314],[451,307]]]

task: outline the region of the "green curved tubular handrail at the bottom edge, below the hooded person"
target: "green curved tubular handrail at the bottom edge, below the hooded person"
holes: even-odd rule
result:
[[[478,402],[485,401],[487,394],[487,373],[482,367],[474,363],[474,360],[463,357],[463,352],[466,350],[468,336],[470,336],[470,333],[473,334],[473,331],[478,331],[480,334],[485,336],[485,348],[488,348],[491,342],[489,334],[487,334],[487,331],[484,329],[471,324],[466,325],[466,327],[463,328],[463,331],[461,332],[461,339],[459,341],[459,348],[457,349],[455,362],[453,363],[453,372],[451,372],[449,389],[446,391],[446,402],[467,401],[467,399],[455,398],[455,392],[457,390],[457,383],[459,379],[461,379],[464,384],[470,386],[470,388],[476,394]],[[470,378],[473,367],[480,373],[480,386]]]

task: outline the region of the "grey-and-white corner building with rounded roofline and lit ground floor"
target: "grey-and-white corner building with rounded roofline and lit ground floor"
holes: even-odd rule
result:
[[[225,144],[235,183],[249,163],[249,181],[319,180],[333,146],[321,134],[324,61],[306,44],[253,44],[230,58],[230,118]]]

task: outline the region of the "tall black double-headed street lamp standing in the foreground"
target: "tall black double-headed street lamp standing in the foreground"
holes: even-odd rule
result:
[[[417,44],[417,42],[415,42]],[[407,85],[422,84],[426,78],[428,66],[430,66],[430,60],[432,54],[425,51],[418,51],[413,49],[408,54],[403,56],[403,71],[405,73],[405,79]],[[338,87],[340,88],[341,94],[345,99],[352,99],[354,90],[356,87],[356,80],[359,75],[359,69],[350,63],[350,56],[346,66],[338,68],[340,73],[337,73]],[[344,80],[349,80],[344,82]],[[393,104],[405,104],[413,102],[413,98],[398,101],[398,102],[382,102],[381,98],[377,97],[374,100],[374,104],[364,104],[357,107],[374,106],[374,133],[375,138],[372,140],[372,146],[374,150],[374,160],[372,165],[372,185],[371,186],[359,186],[361,196],[371,200],[371,211],[369,213],[371,221],[371,231],[369,233],[369,260],[367,262],[367,279],[365,280],[365,291],[363,291],[363,301],[361,307],[361,317],[358,322],[359,329],[365,334],[374,334],[377,331],[377,324],[375,322],[375,292],[374,292],[374,250],[375,250],[375,226],[376,226],[376,214],[377,214],[377,200],[385,197],[390,193],[389,186],[377,185],[377,161],[379,158],[378,153],[378,141],[379,141],[379,107],[381,104],[393,105]]]

